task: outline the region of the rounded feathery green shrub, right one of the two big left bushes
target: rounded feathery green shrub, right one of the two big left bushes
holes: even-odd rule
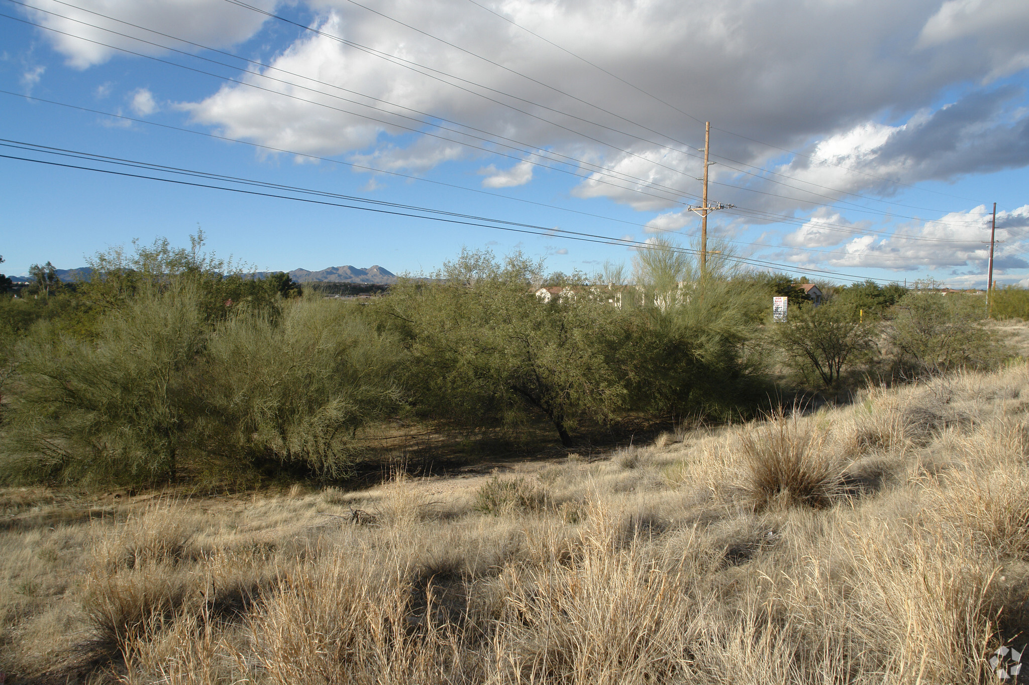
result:
[[[345,304],[285,303],[218,324],[193,379],[209,450],[297,464],[338,478],[360,453],[358,428],[395,411],[392,339]]]

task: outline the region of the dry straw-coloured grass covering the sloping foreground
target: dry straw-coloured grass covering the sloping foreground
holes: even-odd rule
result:
[[[0,493],[7,683],[983,683],[1029,373],[360,492]],[[362,512],[362,516],[355,516]]]

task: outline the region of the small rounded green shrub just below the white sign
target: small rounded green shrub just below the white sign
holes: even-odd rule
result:
[[[872,347],[875,330],[853,301],[790,308],[786,322],[773,324],[771,339],[786,363],[824,387],[839,384],[846,367]]]

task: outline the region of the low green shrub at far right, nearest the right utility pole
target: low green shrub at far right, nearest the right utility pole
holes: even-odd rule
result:
[[[1005,353],[997,335],[982,326],[982,298],[910,293],[897,304],[891,341],[901,373],[933,375],[956,369],[986,369]]]

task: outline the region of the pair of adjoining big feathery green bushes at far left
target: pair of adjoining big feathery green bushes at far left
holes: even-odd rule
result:
[[[2,479],[158,483],[212,459],[346,472],[357,428],[399,398],[388,341],[332,301],[212,324],[206,295],[141,284],[88,341],[36,325],[19,344]]]

